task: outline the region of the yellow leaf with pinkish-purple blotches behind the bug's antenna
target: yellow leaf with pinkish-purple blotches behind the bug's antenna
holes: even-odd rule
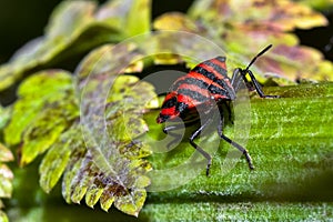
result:
[[[176,24],[179,20],[185,22],[171,28],[172,22]],[[189,23],[196,28],[189,29]],[[276,81],[281,83],[300,79],[333,79],[332,68],[323,60],[323,56],[314,49],[297,46],[296,36],[290,33],[295,28],[327,24],[324,16],[301,3],[290,0],[251,0],[242,3],[195,1],[189,10],[189,17],[171,12],[157,18],[154,24],[157,29],[190,30],[211,39],[225,49],[228,60],[240,60],[242,65],[246,65],[261,49],[272,43],[273,50],[252,68],[262,74],[262,81],[265,80],[263,77],[278,78]]]

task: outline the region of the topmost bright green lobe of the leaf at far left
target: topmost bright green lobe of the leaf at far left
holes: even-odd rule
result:
[[[61,101],[72,91],[72,79],[69,72],[49,70],[27,79],[19,88],[19,100],[13,105],[9,125],[4,129],[8,144],[18,144],[23,131],[39,113],[56,101]]]

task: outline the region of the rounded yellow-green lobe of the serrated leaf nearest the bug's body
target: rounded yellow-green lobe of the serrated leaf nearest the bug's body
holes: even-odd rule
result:
[[[129,141],[147,132],[148,127],[137,109],[145,108],[155,97],[154,88],[137,77],[122,75],[114,80],[112,92],[107,99],[105,110],[109,137],[114,141]],[[119,108],[122,113],[119,113]],[[148,155],[150,152],[147,152]]]

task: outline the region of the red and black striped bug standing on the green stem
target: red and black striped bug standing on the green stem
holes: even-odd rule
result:
[[[181,118],[185,124],[189,122],[195,122],[199,120],[199,111],[204,113],[206,117],[201,127],[196,129],[189,138],[191,145],[208,160],[206,175],[209,175],[210,172],[212,158],[194,142],[194,139],[198,138],[203,129],[212,122],[210,119],[212,104],[218,104],[220,111],[220,122],[218,125],[219,135],[221,139],[240,150],[245,155],[249,168],[251,170],[254,169],[251,157],[246,149],[223,134],[224,115],[222,105],[226,104],[228,101],[235,100],[235,92],[238,91],[242,80],[245,82],[249,89],[253,84],[261,98],[279,97],[264,94],[259,82],[250,70],[250,67],[255,62],[255,60],[265,53],[271,47],[272,44],[268,46],[260,53],[258,53],[245,69],[236,68],[231,79],[226,75],[225,57],[216,57],[214,59],[206,60],[195,65],[184,77],[175,80],[170,89],[170,92],[167,94],[162,104],[162,110],[157,119],[158,123],[163,123],[167,120],[172,121],[176,118]],[[249,74],[251,78],[252,83],[246,79],[246,74]],[[176,133],[172,131],[180,129],[182,125],[183,124],[173,124],[163,129],[164,133],[175,138],[171,143],[178,140]]]

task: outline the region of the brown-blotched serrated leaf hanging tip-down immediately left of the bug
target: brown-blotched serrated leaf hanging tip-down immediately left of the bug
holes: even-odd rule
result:
[[[100,200],[101,208],[108,211],[114,202],[119,210],[132,215],[138,215],[144,203],[144,188],[150,184],[144,173],[150,165],[141,158],[150,151],[138,137],[148,130],[142,113],[157,95],[149,83],[121,75],[140,58],[137,48],[134,43],[101,47],[77,71],[88,152],[83,159],[71,155],[73,164],[63,180],[68,202],[80,202],[85,195],[91,208]],[[89,118],[93,121],[88,122]],[[107,129],[99,125],[100,121],[107,123]]]

